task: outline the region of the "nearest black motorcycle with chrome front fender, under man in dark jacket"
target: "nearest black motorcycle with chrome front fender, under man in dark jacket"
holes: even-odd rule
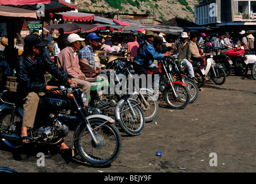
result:
[[[56,145],[77,125],[72,137],[72,156],[93,166],[106,166],[116,160],[122,139],[114,120],[101,114],[89,115],[86,93],[79,86],[60,86],[61,94],[46,93],[40,97],[35,125],[28,128],[30,143]],[[0,98],[0,141],[9,148],[20,148],[22,98],[17,92],[6,91]],[[69,127],[68,127],[69,126]]]

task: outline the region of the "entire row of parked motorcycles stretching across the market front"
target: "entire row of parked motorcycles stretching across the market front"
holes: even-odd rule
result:
[[[60,90],[60,95],[47,93],[40,98],[35,127],[28,132],[30,142],[57,145],[74,127],[72,156],[80,156],[83,162],[93,166],[106,166],[120,154],[122,138],[119,128],[129,136],[139,136],[145,122],[151,122],[157,116],[159,99],[171,109],[184,109],[196,101],[198,89],[204,86],[207,76],[216,85],[223,85],[230,72],[247,74],[248,64],[256,79],[256,63],[248,63],[246,52],[236,57],[216,53],[212,49],[202,52],[202,57],[211,66],[206,62],[192,62],[197,84],[188,78],[186,68],[177,59],[178,52],[159,60],[158,70],[154,70],[157,72],[151,72],[159,76],[152,81],[157,87],[152,85],[152,88],[137,85],[132,61],[124,55],[114,56],[116,59],[106,64],[109,71],[100,72],[89,81],[89,97],[79,86],[59,85],[53,90]],[[83,105],[87,98],[89,106]],[[0,99],[1,145],[20,148],[24,145],[20,137],[22,99],[13,91],[6,91]]]

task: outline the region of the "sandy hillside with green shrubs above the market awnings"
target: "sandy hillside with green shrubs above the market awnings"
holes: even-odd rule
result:
[[[79,11],[124,14],[148,14],[167,21],[178,16],[194,22],[194,5],[198,0],[74,0]]]

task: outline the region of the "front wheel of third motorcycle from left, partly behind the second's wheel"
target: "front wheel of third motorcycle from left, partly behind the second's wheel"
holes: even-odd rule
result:
[[[159,104],[154,94],[148,94],[147,91],[141,91],[143,97],[148,102],[148,106],[144,105],[143,99],[140,94],[133,95],[133,99],[136,99],[140,103],[140,107],[143,110],[145,122],[151,122],[158,114]]]

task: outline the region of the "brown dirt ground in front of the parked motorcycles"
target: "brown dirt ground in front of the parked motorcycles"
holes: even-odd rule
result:
[[[250,71],[249,71],[250,72]],[[221,86],[205,83],[197,100],[173,110],[159,101],[154,121],[141,135],[121,132],[123,147],[117,160],[93,167],[60,154],[37,166],[42,147],[18,151],[0,145],[0,167],[19,173],[249,173],[256,171],[256,81],[228,76]],[[121,131],[121,130],[120,130]],[[72,132],[66,143],[71,146]],[[162,156],[156,156],[162,152]]]

